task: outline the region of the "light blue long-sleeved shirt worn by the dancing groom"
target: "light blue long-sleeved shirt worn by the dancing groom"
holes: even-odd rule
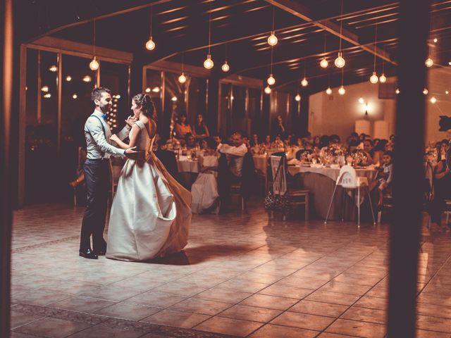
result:
[[[95,118],[92,115],[95,115],[98,118]],[[109,124],[104,121],[104,114],[94,110],[92,115],[89,115],[85,123],[87,158],[109,158],[110,155],[124,157],[125,150],[116,148],[116,146],[111,144],[111,129]],[[104,128],[102,128],[102,125]],[[125,139],[129,132],[130,130],[125,126],[117,135],[119,139]]]

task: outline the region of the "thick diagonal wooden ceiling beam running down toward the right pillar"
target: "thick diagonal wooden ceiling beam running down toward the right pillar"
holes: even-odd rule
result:
[[[351,32],[350,30],[347,30],[346,28],[341,27],[337,23],[335,23],[332,20],[314,20],[313,15],[311,15],[309,9],[302,4],[299,4],[299,2],[295,0],[265,0],[268,2],[268,4],[271,4],[273,6],[276,6],[280,9],[282,9],[285,12],[288,12],[292,15],[297,16],[297,18],[301,18],[304,21],[307,21],[308,23],[314,23],[314,25],[321,27],[323,30],[326,30],[330,34],[333,34],[337,37],[340,37],[341,39],[344,39],[347,42],[350,42],[350,44],[354,44],[354,46],[360,46],[365,51],[368,51],[369,53],[376,55],[378,58],[382,58],[383,60],[393,63],[396,65],[397,63],[393,61],[390,58],[390,55],[388,53],[385,53],[383,50],[379,49],[378,47],[374,48],[371,46],[361,45],[359,42],[359,37],[355,33]],[[371,8],[370,8],[371,9]],[[341,33],[340,33],[341,31]]]

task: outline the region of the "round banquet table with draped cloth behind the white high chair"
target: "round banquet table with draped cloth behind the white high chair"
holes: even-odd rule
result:
[[[338,168],[311,168],[301,165],[289,165],[288,173],[292,176],[296,176],[297,184],[303,189],[308,189],[311,192],[312,207],[314,213],[320,219],[325,219],[332,198],[333,189],[335,189],[335,182],[340,173]],[[377,189],[374,189],[377,185],[376,175],[377,170],[373,167],[358,168],[356,169],[357,176],[366,177],[369,182],[369,189],[371,192],[371,201],[373,208],[377,204],[378,193]],[[300,174],[300,175],[299,175]],[[366,192],[361,190],[361,196]],[[332,208],[330,209],[330,220],[341,220],[342,214],[346,220],[356,220],[356,200],[353,191],[347,192],[342,187],[338,186],[337,191],[332,202]],[[367,198],[363,200],[361,206],[362,220],[365,218],[371,219],[371,209],[369,208],[369,201]]]

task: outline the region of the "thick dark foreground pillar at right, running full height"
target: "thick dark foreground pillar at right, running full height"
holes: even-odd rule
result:
[[[421,230],[421,204],[426,87],[426,39],[430,1],[402,0],[400,6],[399,88],[396,149],[390,227],[388,337],[415,337],[416,275]],[[402,161],[400,161],[402,160]]]

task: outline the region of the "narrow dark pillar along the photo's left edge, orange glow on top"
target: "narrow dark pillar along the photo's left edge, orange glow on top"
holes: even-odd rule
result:
[[[13,1],[0,0],[0,337],[9,337],[11,296],[11,111],[13,96]]]

